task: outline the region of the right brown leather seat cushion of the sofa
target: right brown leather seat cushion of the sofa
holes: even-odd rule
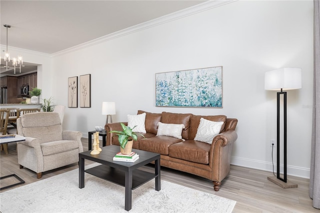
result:
[[[202,164],[209,163],[209,151],[211,145],[208,143],[185,140],[169,146],[169,156]]]

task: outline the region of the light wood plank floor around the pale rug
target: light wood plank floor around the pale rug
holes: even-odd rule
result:
[[[87,138],[82,138],[82,144],[84,151],[88,150]],[[35,172],[26,168],[19,169],[15,147],[15,143],[10,143],[8,145],[8,154],[4,154],[1,151],[0,176],[15,173],[25,181],[24,184],[28,184],[78,168],[77,163],[74,163],[46,171],[41,179],[37,179]],[[92,162],[85,160],[85,164],[90,163]],[[152,171],[153,167],[152,165],[146,165],[143,169]],[[283,189],[267,180],[267,176],[272,175],[272,172],[269,171],[231,165],[230,173],[222,181],[220,190],[214,191],[212,182],[207,179],[161,167],[161,179],[163,180],[235,200],[236,204],[233,212],[320,212],[319,209],[312,207],[312,200],[308,195],[308,179],[288,176],[288,179],[297,183],[298,187]],[[0,184],[1,186],[6,185],[11,181],[15,181],[14,178],[1,180]],[[14,187],[3,189],[0,192]]]

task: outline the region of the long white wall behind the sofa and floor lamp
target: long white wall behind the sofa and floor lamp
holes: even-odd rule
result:
[[[91,107],[66,108],[63,122],[84,136],[104,125],[102,101],[116,102],[113,122],[138,109],[235,117],[232,163],[271,170],[276,92],[264,90],[264,72],[301,67],[302,88],[287,92],[287,163],[288,174],[309,177],[312,45],[311,0],[241,0],[55,55],[42,87],[52,84],[56,103],[67,105],[68,77],[91,74]],[[155,73],[220,65],[223,108],[155,107]]]

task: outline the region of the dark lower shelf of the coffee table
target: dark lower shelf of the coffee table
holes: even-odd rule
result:
[[[92,168],[88,168],[84,171],[101,179],[125,186],[125,173],[123,170],[101,164]],[[155,177],[157,177],[157,175],[154,173],[142,171],[140,169],[134,169],[132,171],[132,190]]]

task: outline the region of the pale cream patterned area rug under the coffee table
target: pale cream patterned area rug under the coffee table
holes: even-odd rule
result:
[[[98,163],[87,165],[86,168]],[[78,187],[78,169],[0,193],[1,212],[127,212],[124,187],[85,173]],[[175,183],[154,179],[132,190],[129,212],[231,212],[235,201]]]

